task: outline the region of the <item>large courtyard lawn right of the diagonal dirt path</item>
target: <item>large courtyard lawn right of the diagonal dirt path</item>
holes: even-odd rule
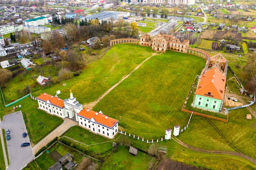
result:
[[[160,139],[166,128],[186,124],[189,114],[180,111],[182,101],[204,64],[202,58],[184,53],[156,55],[106,95],[94,110],[120,120],[119,126],[131,134]]]

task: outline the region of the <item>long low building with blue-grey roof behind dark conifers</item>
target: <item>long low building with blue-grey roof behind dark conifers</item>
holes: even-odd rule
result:
[[[117,12],[101,12],[101,13],[97,13],[97,14],[94,14],[94,15],[89,15],[89,16],[86,16],[86,17],[82,17],[81,20],[95,20],[95,19],[98,19],[99,22],[101,23],[103,20],[105,21],[109,21],[111,18],[116,20],[118,19],[118,13]]]

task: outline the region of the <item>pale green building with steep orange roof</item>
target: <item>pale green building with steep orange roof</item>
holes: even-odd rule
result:
[[[208,68],[200,77],[195,91],[194,106],[214,112],[221,111],[224,102],[226,76],[218,65]]]

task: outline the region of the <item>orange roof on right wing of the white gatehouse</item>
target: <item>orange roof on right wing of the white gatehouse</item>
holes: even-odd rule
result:
[[[85,117],[87,119],[92,119],[92,117],[93,117],[93,119],[97,123],[105,125],[105,126],[108,126],[110,128],[112,128],[112,126],[114,126],[117,123],[117,121],[118,121],[116,119],[108,117],[107,115],[103,115],[101,113],[94,112],[93,110],[90,110],[90,109],[81,110],[81,112],[78,113],[77,115],[80,115],[80,116]],[[106,117],[107,117],[107,119],[106,119]]]

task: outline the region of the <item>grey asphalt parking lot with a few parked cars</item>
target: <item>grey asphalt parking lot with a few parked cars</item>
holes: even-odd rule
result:
[[[21,147],[20,144],[29,142],[29,135],[23,137],[22,133],[27,132],[21,111],[5,115],[0,122],[0,128],[9,129],[11,139],[7,141],[10,165],[7,170],[20,170],[27,163],[34,159],[31,145]],[[6,139],[5,139],[6,140]]]

